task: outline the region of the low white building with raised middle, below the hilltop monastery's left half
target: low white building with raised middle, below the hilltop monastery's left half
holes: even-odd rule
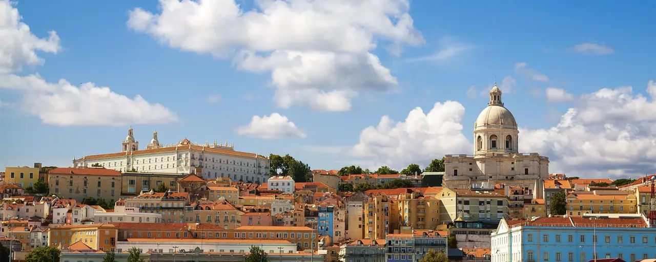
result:
[[[119,200],[114,206],[114,212],[96,210],[94,221],[97,224],[123,222],[123,223],[160,223],[161,214],[140,213],[139,208],[126,207],[124,200]]]

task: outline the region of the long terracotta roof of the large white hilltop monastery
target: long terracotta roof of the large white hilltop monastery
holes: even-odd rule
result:
[[[186,144],[184,143],[185,141]],[[130,151],[130,152],[102,154],[102,155],[88,155],[81,159],[76,159],[76,160],[107,159],[110,157],[123,157],[126,155],[144,155],[144,154],[153,154],[153,153],[174,152],[174,151],[181,151],[181,150],[188,150],[188,149],[211,152],[211,153],[219,153],[224,155],[234,155],[239,157],[257,157],[258,159],[267,159],[266,157],[261,155],[256,155],[255,153],[246,153],[246,152],[239,152],[239,151],[228,150],[228,149],[203,147],[201,145],[192,145],[190,142],[188,142],[189,140],[185,140],[185,141],[182,141],[183,143],[181,143],[181,145],[175,145],[171,147],[161,147],[157,149],[144,149],[144,150],[137,150],[137,151]]]

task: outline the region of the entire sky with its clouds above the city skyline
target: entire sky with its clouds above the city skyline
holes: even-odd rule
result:
[[[550,172],[656,172],[656,3],[0,0],[0,166],[234,143],[312,169],[473,154],[495,83]]]

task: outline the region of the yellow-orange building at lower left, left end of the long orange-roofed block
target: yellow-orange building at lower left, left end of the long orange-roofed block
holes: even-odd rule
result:
[[[68,248],[75,242],[83,242],[94,250],[116,248],[118,227],[112,224],[62,225],[49,231],[49,246]]]

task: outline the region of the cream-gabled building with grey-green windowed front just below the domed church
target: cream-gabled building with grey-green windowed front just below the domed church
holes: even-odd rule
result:
[[[458,217],[474,221],[499,221],[508,218],[508,197],[492,190],[447,189],[440,194],[441,222],[455,221]]]

